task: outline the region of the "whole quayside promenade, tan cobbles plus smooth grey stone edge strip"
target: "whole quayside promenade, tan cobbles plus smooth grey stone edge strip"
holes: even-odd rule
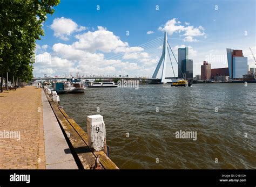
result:
[[[77,169],[42,89],[0,93],[0,169]]]

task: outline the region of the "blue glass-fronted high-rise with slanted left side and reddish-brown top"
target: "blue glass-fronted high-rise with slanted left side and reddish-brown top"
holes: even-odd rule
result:
[[[227,48],[227,61],[230,78],[242,78],[242,75],[247,74],[247,57],[242,55],[242,50]]]

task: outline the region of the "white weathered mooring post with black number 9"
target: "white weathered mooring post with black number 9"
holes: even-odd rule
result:
[[[103,150],[107,154],[106,128],[102,115],[87,116],[87,134],[89,147],[93,151]]]

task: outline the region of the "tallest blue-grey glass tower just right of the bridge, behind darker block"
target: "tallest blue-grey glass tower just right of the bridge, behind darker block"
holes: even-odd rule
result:
[[[183,61],[188,60],[188,47],[178,48],[178,77],[183,78],[184,71],[184,63]],[[186,64],[186,62],[185,62]]]

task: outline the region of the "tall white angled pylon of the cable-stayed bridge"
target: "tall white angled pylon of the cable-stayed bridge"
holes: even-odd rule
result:
[[[157,78],[158,71],[159,71],[159,69],[161,67],[161,64],[163,63],[163,69],[162,69],[162,74],[161,74],[161,83],[172,82],[171,80],[167,80],[165,78],[166,64],[167,64],[167,53],[166,53],[166,50],[167,50],[167,33],[164,32],[163,52],[162,52],[160,60],[159,60],[159,62],[157,64],[157,68],[156,68],[156,70],[154,70],[154,74],[152,76],[152,78]]]

